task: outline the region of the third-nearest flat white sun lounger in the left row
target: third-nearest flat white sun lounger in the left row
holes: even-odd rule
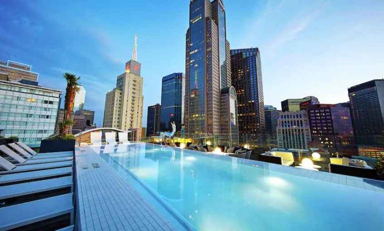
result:
[[[1,161],[1,160],[0,160]],[[39,171],[26,171],[13,174],[0,175],[0,185],[17,183],[26,180],[41,180],[44,178],[56,177],[61,175],[72,175],[72,167],[60,167]]]

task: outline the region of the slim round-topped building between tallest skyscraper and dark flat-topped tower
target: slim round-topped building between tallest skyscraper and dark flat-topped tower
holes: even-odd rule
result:
[[[237,97],[233,86],[221,89],[220,102],[220,144],[239,145],[239,126],[237,118]]]

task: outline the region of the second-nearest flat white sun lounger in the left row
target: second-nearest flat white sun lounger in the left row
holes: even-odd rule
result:
[[[0,186],[0,200],[64,187],[71,187],[71,192],[73,192],[72,176]]]

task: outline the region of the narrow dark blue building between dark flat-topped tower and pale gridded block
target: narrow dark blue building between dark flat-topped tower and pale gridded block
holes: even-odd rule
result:
[[[271,105],[264,105],[265,114],[265,142],[269,147],[277,146],[277,118],[280,110]]]

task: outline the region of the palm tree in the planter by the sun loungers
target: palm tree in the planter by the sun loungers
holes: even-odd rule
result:
[[[64,101],[64,110],[66,113],[64,114],[64,122],[60,127],[60,133],[62,136],[65,136],[69,132],[69,128],[72,124],[71,115],[73,111],[75,95],[80,90],[80,77],[76,77],[73,73],[64,73],[63,77],[67,80],[67,88],[66,95]]]

